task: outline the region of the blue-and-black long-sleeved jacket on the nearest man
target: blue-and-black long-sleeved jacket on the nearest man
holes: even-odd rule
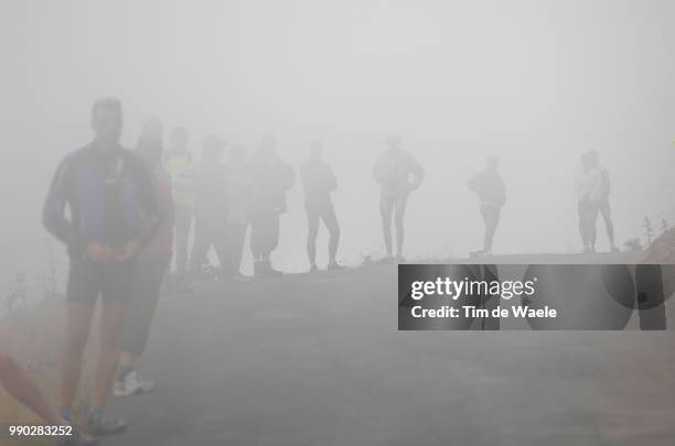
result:
[[[90,242],[144,244],[160,222],[154,194],[150,174],[132,152],[104,153],[90,143],[69,153],[56,170],[43,222],[72,257],[82,255]]]

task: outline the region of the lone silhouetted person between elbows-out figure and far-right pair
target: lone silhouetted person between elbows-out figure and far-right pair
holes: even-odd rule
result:
[[[483,249],[472,254],[491,255],[494,233],[500,225],[502,207],[506,203],[506,186],[497,170],[496,156],[488,155],[485,168],[471,177],[467,185],[479,197],[479,208],[485,224]]]

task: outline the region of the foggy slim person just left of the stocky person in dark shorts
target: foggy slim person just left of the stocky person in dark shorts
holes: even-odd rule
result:
[[[246,148],[236,145],[229,151],[225,164],[227,191],[227,257],[223,265],[226,278],[235,281],[246,280],[240,273],[244,239],[248,228],[248,211],[253,198],[250,177],[246,167]]]

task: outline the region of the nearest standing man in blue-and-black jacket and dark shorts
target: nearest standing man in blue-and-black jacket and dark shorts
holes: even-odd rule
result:
[[[106,435],[127,427],[122,420],[104,420],[103,410],[119,359],[136,255],[154,235],[159,217],[146,167],[119,145],[119,100],[97,100],[92,109],[92,128],[94,141],[69,153],[58,166],[43,221],[67,246],[69,254],[58,405],[64,418],[71,420],[82,357],[100,294],[99,352],[87,422],[92,435]]]

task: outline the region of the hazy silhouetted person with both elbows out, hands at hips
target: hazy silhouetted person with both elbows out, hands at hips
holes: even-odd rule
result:
[[[379,213],[387,250],[385,261],[404,262],[406,205],[410,193],[421,185],[425,174],[413,155],[400,148],[400,139],[397,135],[388,135],[385,143],[387,149],[377,157],[373,166],[373,177],[381,185]],[[392,220],[396,227],[395,259],[392,248]]]

